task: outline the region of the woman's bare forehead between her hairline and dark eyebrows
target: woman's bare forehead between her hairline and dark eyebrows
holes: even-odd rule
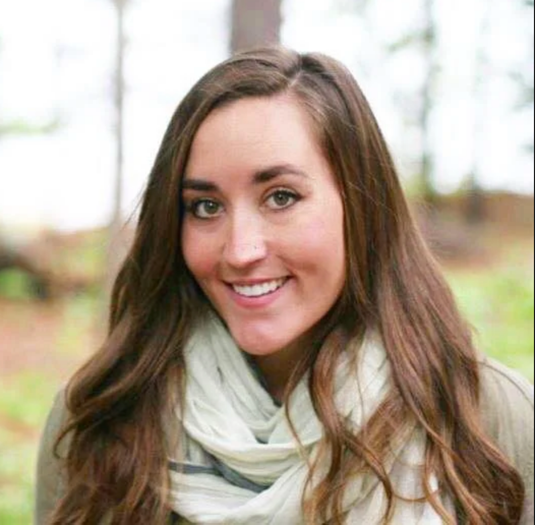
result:
[[[202,122],[186,176],[210,173],[223,164],[253,164],[249,167],[258,169],[318,157],[324,158],[314,123],[294,96],[242,98],[216,108]]]

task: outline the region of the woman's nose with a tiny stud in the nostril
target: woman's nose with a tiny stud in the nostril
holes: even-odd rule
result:
[[[267,254],[262,219],[256,214],[235,211],[229,220],[223,257],[227,264],[244,268]]]

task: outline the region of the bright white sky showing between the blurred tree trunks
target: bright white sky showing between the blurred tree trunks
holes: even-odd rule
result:
[[[331,54],[355,73],[408,179],[417,169],[420,139],[407,121],[400,93],[415,92],[422,60],[417,51],[391,56],[386,43],[415,25],[421,0],[376,0],[363,16],[357,4],[285,0],[282,43]],[[476,159],[486,188],[532,193],[533,156],[522,144],[532,140],[533,107],[513,111],[518,90],[509,75],[529,64],[533,19],[514,0],[435,4],[441,67],[433,110],[437,186],[455,190]],[[228,0],[131,0],[128,5],[126,215],[180,98],[227,55],[229,5]],[[482,33],[484,10],[488,23]],[[4,228],[29,224],[73,230],[108,222],[115,148],[114,32],[110,0],[0,0],[0,125],[25,121],[39,127],[58,121],[50,134],[0,136]],[[475,96],[478,43],[487,66]],[[532,58],[530,67],[532,74]]]

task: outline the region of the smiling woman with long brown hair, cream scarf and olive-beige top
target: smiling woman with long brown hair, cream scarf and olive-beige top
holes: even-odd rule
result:
[[[350,73],[250,51],[171,119],[108,339],[49,417],[37,522],[528,523],[532,430]]]

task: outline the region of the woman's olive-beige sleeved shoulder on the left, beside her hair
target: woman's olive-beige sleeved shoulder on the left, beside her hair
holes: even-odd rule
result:
[[[64,489],[62,463],[54,454],[53,449],[66,418],[65,392],[62,389],[56,394],[41,434],[35,487],[34,522],[36,525],[47,521],[48,515],[56,506]],[[64,455],[66,446],[66,443],[62,443],[58,451],[60,456]]]

